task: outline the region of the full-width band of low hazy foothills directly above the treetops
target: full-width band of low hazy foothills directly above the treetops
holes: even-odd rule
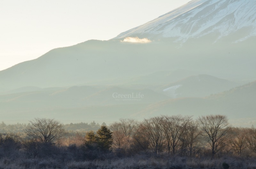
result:
[[[113,98],[113,93],[131,92],[144,94],[144,98],[140,101]],[[28,117],[34,118],[35,114],[36,117],[51,117],[63,122],[70,122],[70,119],[72,122],[98,119],[100,123],[108,123],[119,118],[143,119],[164,114],[197,117],[216,113],[237,120],[255,117],[255,103],[256,81],[204,98],[177,99],[170,99],[149,89],[81,86],[58,91],[1,95],[0,113],[6,122],[18,119],[27,122]]]

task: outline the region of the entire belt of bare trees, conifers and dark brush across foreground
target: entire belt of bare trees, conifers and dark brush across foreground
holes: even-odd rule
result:
[[[96,125],[95,122],[91,124]],[[6,127],[4,123],[2,126]],[[117,160],[119,157],[134,159],[136,156],[167,161],[190,157],[184,158],[183,162],[187,159],[198,161],[187,161],[187,165],[183,167],[202,168],[202,159],[236,157],[237,160],[252,161],[256,157],[255,128],[231,127],[228,118],[223,115],[198,118],[181,115],[156,116],[142,121],[120,119],[109,127],[103,123],[97,130],[87,132],[65,130],[55,119],[34,119],[25,126],[23,132],[17,134],[0,134],[0,167],[4,164],[4,159],[9,160],[8,164],[17,163],[21,166],[26,162],[26,168],[33,168],[36,163],[42,163],[37,168],[63,168],[66,165],[79,168],[74,165],[75,162]],[[28,159],[30,162],[26,161]],[[45,160],[48,161],[47,164]],[[50,164],[51,160],[55,162]],[[224,162],[226,161],[218,162],[218,165]],[[162,165],[163,168],[165,166],[168,166],[167,163]],[[235,168],[234,165],[232,168]]]

